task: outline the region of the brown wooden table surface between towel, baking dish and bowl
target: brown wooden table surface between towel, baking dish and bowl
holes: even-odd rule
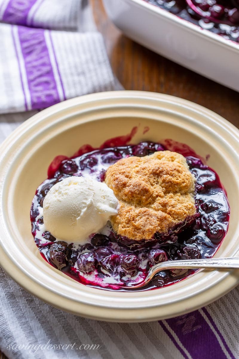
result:
[[[90,1],[114,74],[126,90],[153,91],[185,98],[215,111],[239,127],[239,93],[125,37],[107,18],[101,0]],[[6,359],[1,352],[0,359]]]

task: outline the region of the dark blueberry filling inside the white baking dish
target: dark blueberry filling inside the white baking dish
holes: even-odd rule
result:
[[[144,0],[202,29],[239,42],[239,0]]]

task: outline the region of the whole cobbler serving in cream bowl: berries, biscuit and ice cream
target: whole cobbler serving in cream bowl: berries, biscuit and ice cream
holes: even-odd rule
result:
[[[54,159],[48,175],[33,199],[32,234],[42,257],[82,284],[134,290],[121,287],[154,264],[212,257],[228,229],[218,175],[171,140],[86,145]],[[161,271],[140,290],[194,272]]]

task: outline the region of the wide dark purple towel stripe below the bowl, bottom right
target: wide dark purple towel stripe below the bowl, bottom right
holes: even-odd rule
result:
[[[227,358],[218,339],[199,311],[167,319],[166,322],[193,359]]]

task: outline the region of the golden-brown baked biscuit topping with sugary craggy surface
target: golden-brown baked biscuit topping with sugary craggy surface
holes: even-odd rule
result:
[[[111,217],[113,230],[134,241],[167,234],[196,213],[195,177],[179,153],[120,159],[107,169],[105,182],[120,204]]]

